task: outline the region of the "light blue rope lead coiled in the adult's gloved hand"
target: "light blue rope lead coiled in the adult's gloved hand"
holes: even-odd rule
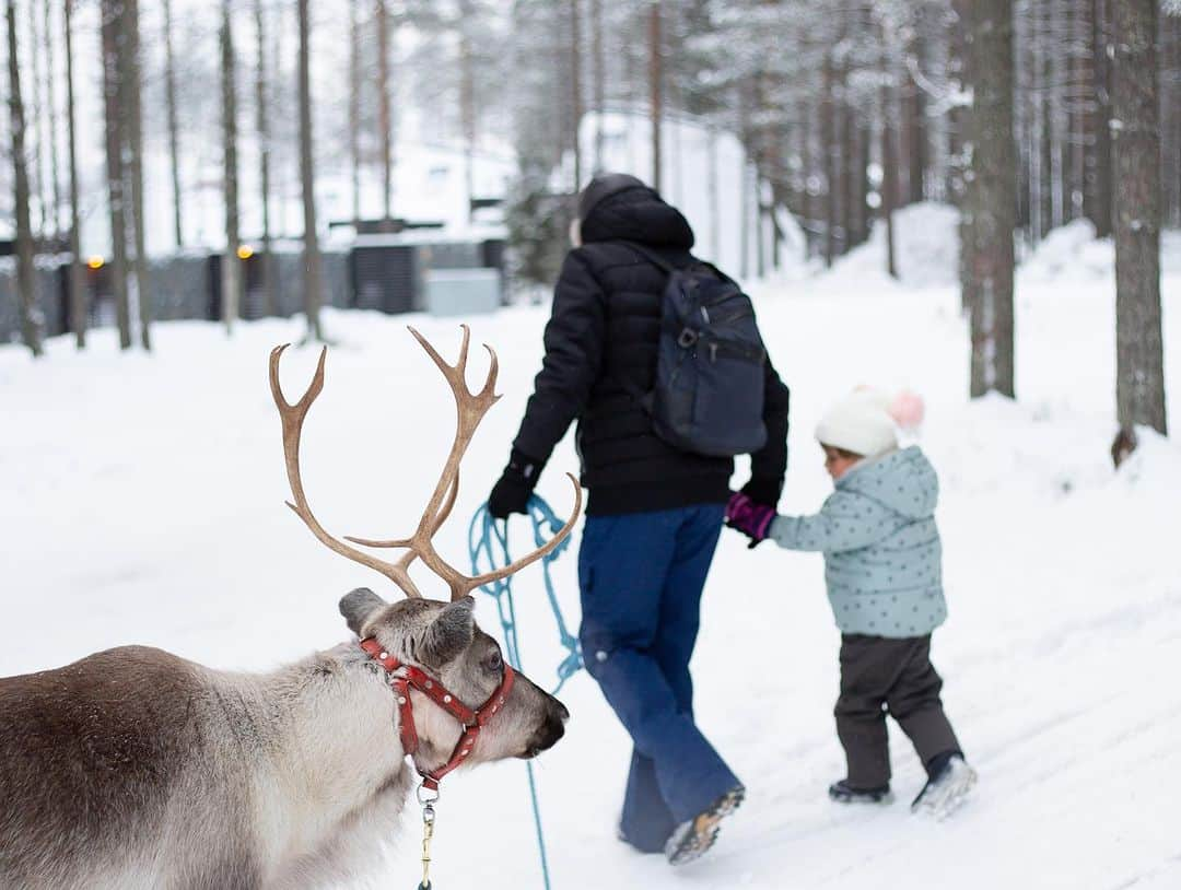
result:
[[[554,515],[549,504],[536,495],[529,498],[527,510],[533,524],[533,539],[536,547],[541,547],[549,536],[561,531],[562,522]],[[554,687],[554,695],[582,667],[579,639],[566,627],[562,609],[557,602],[557,594],[554,590],[554,580],[550,574],[552,563],[566,551],[569,543],[570,539],[567,538],[554,548],[553,552],[543,556],[541,559],[542,575],[546,581],[546,597],[549,600],[549,608],[554,613],[559,639],[566,649],[566,656],[557,666],[557,686]],[[513,562],[513,558],[509,556],[508,523],[492,518],[492,515],[488,512],[487,504],[476,510],[476,515],[471,517],[471,525],[468,528],[468,548],[471,556],[471,570],[475,574],[491,571]],[[504,649],[509,662],[518,669],[524,669],[524,666],[521,663],[521,646],[516,631],[516,604],[513,602],[513,577],[509,576],[484,584],[481,587],[481,590],[496,601],[496,611],[501,619],[501,629],[504,631]],[[537,783],[533,774],[531,760],[526,763],[526,773],[529,777],[529,800],[533,804],[533,822],[537,830],[537,850],[541,852],[541,877],[546,890],[550,890],[549,860],[546,857],[546,836],[541,827],[541,804],[537,800]]]

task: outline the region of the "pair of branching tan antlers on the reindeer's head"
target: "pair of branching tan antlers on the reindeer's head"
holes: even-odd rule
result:
[[[283,454],[287,459],[287,478],[292,486],[292,493],[295,497],[295,504],[288,503],[288,506],[295,511],[295,513],[304,521],[304,523],[312,530],[312,534],[315,535],[321,543],[341,556],[381,572],[400,587],[407,596],[422,596],[413,581],[411,581],[409,574],[410,565],[416,558],[422,559],[431,571],[446,582],[448,587],[451,588],[451,598],[458,600],[475,588],[507,577],[550,554],[554,548],[556,548],[574,529],[574,524],[578,522],[579,513],[582,510],[582,490],[579,486],[578,479],[575,479],[570,473],[567,473],[567,477],[574,484],[574,511],[566,525],[563,525],[548,543],[537,550],[534,550],[531,554],[513,562],[510,565],[505,565],[502,569],[488,571],[483,575],[470,576],[464,575],[455,567],[450,565],[435,550],[433,537],[446,521],[448,516],[451,515],[451,509],[455,506],[456,498],[459,493],[459,463],[468,450],[468,445],[471,443],[471,437],[475,434],[476,427],[479,426],[479,421],[484,419],[484,414],[488,413],[488,410],[500,399],[500,397],[494,392],[498,371],[496,353],[487,345],[484,348],[488,349],[488,353],[491,356],[488,379],[478,393],[474,393],[468,388],[466,371],[470,332],[468,331],[466,325],[462,327],[463,342],[459,346],[459,360],[455,365],[448,365],[435,347],[432,347],[422,334],[413,328],[410,328],[410,333],[413,334],[415,339],[418,340],[422,347],[426,351],[426,354],[431,356],[431,360],[438,369],[443,372],[443,377],[451,386],[451,392],[455,394],[457,415],[455,441],[451,445],[451,452],[444,464],[443,472],[435,486],[431,499],[426,504],[426,510],[423,512],[423,517],[418,522],[418,528],[411,537],[394,541],[371,541],[366,538],[345,537],[346,541],[361,544],[363,547],[406,548],[407,552],[397,563],[387,563],[381,559],[377,559],[368,554],[348,547],[328,535],[312,515],[312,510],[308,508],[307,499],[304,495],[304,486],[300,480],[299,471],[300,431],[308,408],[324,388],[324,360],[327,349],[320,353],[320,362],[317,367],[315,377],[312,379],[312,385],[304,394],[304,398],[295,405],[287,404],[282,397],[282,391],[279,387],[279,358],[287,347],[276,347],[270,353],[270,391],[275,398],[275,405],[279,408],[279,414],[283,424]]]

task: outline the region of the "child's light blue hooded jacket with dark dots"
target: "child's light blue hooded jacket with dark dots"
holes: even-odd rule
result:
[[[918,447],[855,465],[815,516],[779,516],[771,537],[824,554],[824,580],[844,634],[922,636],[947,617],[935,469]]]

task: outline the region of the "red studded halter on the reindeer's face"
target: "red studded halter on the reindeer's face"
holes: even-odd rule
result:
[[[443,764],[443,766],[438,770],[426,772],[415,764],[418,774],[423,777],[423,786],[431,791],[438,791],[439,781],[443,777],[468,759],[471,750],[476,747],[476,739],[479,738],[479,731],[504,706],[504,700],[513,691],[513,680],[516,673],[508,662],[504,662],[504,678],[501,680],[500,686],[488,696],[488,701],[472,711],[449,693],[443,683],[430,678],[424,670],[413,665],[403,665],[390,655],[390,653],[381,648],[381,643],[372,636],[361,640],[361,649],[391,675],[390,685],[398,696],[398,724],[402,734],[402,747],[411,759],[413,759],[415,753],[418,751],[418,731],[415,728],[415,712],[410,704],[411,687],[418,689],[418,692],[423,693],[423,695],[463,724],[463,735],[456,742],[455,750],[451,752],[451,759]],[[398,672],[398,674],[394,674],[394,672]]]

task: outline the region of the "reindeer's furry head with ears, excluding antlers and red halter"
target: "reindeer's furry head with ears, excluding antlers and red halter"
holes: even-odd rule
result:
[[[410,598],[386,603],[372,590],[353,590],[340,601],[340,614],[350,629],[374,637],[398,661],[415,665],[469,706],[478,706],[496,691],[504,675],[497,642],[481,630],[472,611],[475,601],[464,596],[452,603]],[[462,727],[445,711],[415,706],[423,746],[420,765],[431,768],[448,759]],[[566,732],[569,712],[553,695],[517,673],[502,711],[481,733],[469,763],[508,757],[530,758],[553,747]]]

